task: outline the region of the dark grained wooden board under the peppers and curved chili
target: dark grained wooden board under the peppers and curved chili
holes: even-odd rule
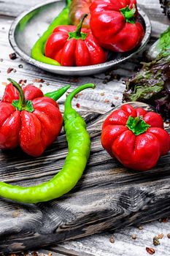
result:
[[[169,155],[161,157],[148,172],[126,170],[101,146],[101,124],[107,115],[84,116],[92,140],[91,153],[72,192],[36,205],[1,199],[0,252],[33,249],[170,214]],[[37,159],[20,149],[1,152],[1,180],[24,186],[47,181],[63,165],[67,154],[64,141],[65,135],[61,135]]]

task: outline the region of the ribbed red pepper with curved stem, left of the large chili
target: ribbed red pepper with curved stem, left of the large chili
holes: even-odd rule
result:
[[[58,104],[35,86],[22,89],[9,81],[0,102],[0,148],[20,146],[39,157],[61,132],[63,117]]]

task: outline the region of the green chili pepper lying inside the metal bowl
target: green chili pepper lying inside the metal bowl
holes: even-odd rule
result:
[[[53,59],[47,58],[45,54],[45,43],[50,37],[50,34],[53,33],[53,30],[55,29],[56,26],[59,25],[69,25],[69,7],[71,4],[72,0],[67,0],[66,1],[66,7],[63,8],[61,13],[56,17],[53,22],[50,24],[48,27],[47,31],[45,31],[44,34],[42,34],[42,37],[40,37],[35,45],[33,46],[31,50],[31,57],[33,59],[36,59],[36,61],[41,61],[46,64],[51,64],[55,66],[60,66],[61,64],[58,63],[58,61],[55,61]]]

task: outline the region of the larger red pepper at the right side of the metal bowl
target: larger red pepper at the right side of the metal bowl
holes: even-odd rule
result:
[[[90,28],[102,47],[115,52],[135,48],[144,37],[136,20],[136,0],[96,0],[90,5]]]

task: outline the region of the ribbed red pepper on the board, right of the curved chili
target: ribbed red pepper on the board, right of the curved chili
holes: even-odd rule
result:
[[[104,121],[101,144],[125,167],[149,170],[170,150],[170,136],[158,113],[127,104]]]

